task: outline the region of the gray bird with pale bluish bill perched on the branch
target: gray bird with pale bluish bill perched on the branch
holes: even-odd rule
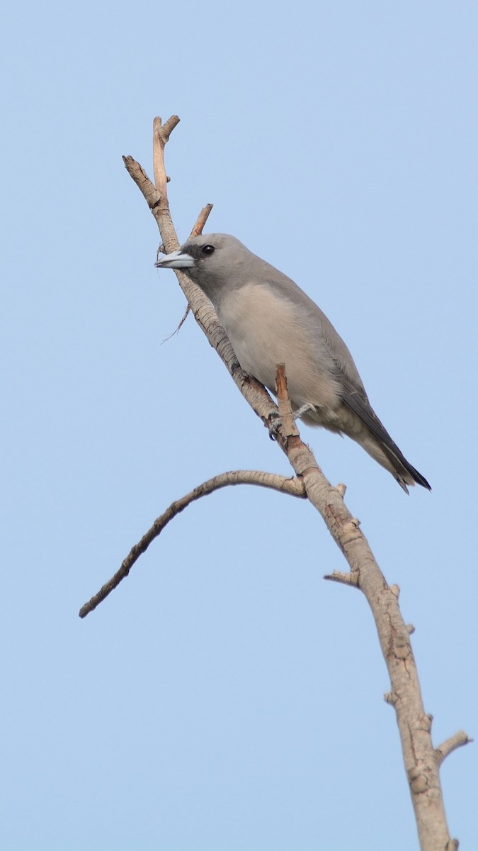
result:
[[[272,393],[276,365],[285,363],[293,410],[304,422],[349,435],[407,493],[407,484],[431,489],[378,420],[344,340],[289,277],[224,233],[191,237],[156,266],[182,269],[201,287],[242,369]]]

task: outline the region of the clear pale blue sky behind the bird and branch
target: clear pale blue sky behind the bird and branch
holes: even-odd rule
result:
[[[287,472],[154,270],[155,115],[185,238],[202,205],[293,277],[432,493],[303,437],[361,518],[439,745],[478,736],[475,3],[48,3],[3,13],[3,710],[8,851],[417,848],[373,620],[309,505],[193,505],[87,620],[171,500]],[[219,400],[219,401],[218,401]],[[477,749],[449,757],[478,847]]]

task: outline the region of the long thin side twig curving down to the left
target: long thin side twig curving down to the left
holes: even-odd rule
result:
[[[265,473],[259,470],[235,470],[228,473],[220,473],[219,476],[214,476],[212,479],[208,479],[208,482],[203,482],[197,488],[191,490],[191,493],[185,494],[185,496],[182,496],[179,500],[172,502],[166,511],[164,511],[160,517],[156,518],[151,528],[143,535],[139,543],[135,544],[131,548],[128,556],[123,560],[119,570],[117,570],[117,573],[111,577],[111,580],[105,582],[105,585],[100,588],[100,591],[98,591],[98,593],[95,594],[88,603],[85,603],[84,606],[80,608],[80,618],[84,618],[87,614],[89,614],[89,612],[92,612],[93,609],[102,603],[105,597],[108,597],[108,594],[110,594],[111,591],[113,591],[117,585],[119,585],[120,582],[128,576],[129,571],[133,567],[134,563],[139,559],[139,556],[148,549],[151,541],[155,540],[155,538],[162,533],[162,529],[165,528],[169,521],[173,520],[180,511],[184,511],[188,505],[191,505],[191,502],[200,500],[202,496],[208,496],[208,494],[212,494],[215,490],[235,484],[255,484],[258,485],[259,488],[271,488],[272,490],[279,491],[281,494],[298,496],[302,499],[305,498],[304,483],[302,483],[300,479],[279,476],[276,473]]]

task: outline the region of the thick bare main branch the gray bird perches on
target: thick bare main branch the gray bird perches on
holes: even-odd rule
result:
[[[158,143],[158,147],[163,156],[164,146]],[[131,157],[125,157],[125,165],[156,218],[167,252],[174,251],[179,243],[168,210],[164,177],[162,192],[158,192],[144,170]],[[327,482],[310,448],[300,439],[290,413],[282,407],[281,416],[278,416],[279,411],[265,388],[242,371],[225,330],[206,296],[184,273],[176,271],[176,274],[196,322],[254,412],[261,417],[265,426],[274,428],[276,441],[287,455],[296,476],[304,482],[308,499],[321,514],[333,540],[344,553],[350,567],[350,580],[348,574],[339,572],[334,572],[330,578],[354,585],[355,580],[351,577],[357,577],[356,585],[372,610],[390,675],[391,689],[387,700],[395,708],[420,848],[422,851],[435,851],[436,848],[452,851],[456,842],[449,837],[447,829],[438,761],[430,735],[430,717],[424,711],[409,632],[401,617],[398,604],[400,590],[396,585],[389,587],[384,580],[358,521],[344,505],[344,486],[333,488]],[[282,396],[282,403],[284,397],[287,397],[287,388],[285,391],[279,389],[278,395]]]

